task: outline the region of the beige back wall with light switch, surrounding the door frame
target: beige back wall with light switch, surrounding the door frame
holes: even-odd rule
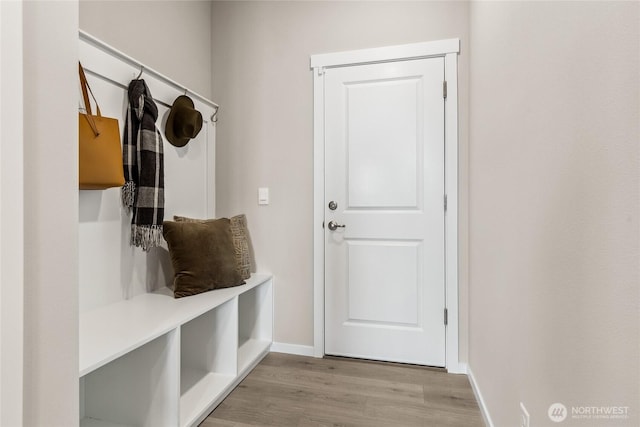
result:
[[[247,214],[258,268],[276,276],[275,341],[313,345],[310,55],[459,37],[466,200],[468,28],[463,2],[213,3],[213,96],[221,105],[216,206],[220,215]],[[269,206],[257,205],[260,186],[271,190]],[[461,324],[464,358],[466,318]]]

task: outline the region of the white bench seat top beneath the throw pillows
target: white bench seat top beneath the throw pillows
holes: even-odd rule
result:
[[[84,376],[176,327],[266,282],[256,274],[245,285],[174,299],[170,289],[143,294],[80,315],[79,374]]]

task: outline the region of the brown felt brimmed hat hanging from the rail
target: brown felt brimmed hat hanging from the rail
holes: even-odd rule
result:
[[[176,147],[184,147],[195,138],[202,129],[202,114],[196,110],[193,101],[186,95],[180,95],[173,101],[164,134]]]

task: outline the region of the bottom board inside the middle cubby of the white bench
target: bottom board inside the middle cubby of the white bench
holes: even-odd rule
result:
[[[192,425],[203,415],[206,416],[217,403],[211,400],[211,396],[222,396],[235,378],[235,375],[183,369],[181,380],[191,386],[180,396],[180,425]]]

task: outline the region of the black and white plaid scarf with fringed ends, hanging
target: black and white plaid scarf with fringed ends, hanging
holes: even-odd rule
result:
[[[131,218],[131,244],[149,251],[162,241],[164,154],[156,129],[158,107],[144,80],[129,84],[122,157],[125,184],[122,202]]]

